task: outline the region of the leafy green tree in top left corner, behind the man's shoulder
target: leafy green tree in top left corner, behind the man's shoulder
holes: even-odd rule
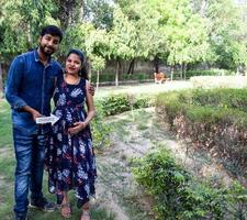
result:
[[[50,16],[52,0],[1,0],[0,16],[0,75],[16,54],[33,48],[45,23],[56,23]],[[0,92],[2,92],[0,76]]]

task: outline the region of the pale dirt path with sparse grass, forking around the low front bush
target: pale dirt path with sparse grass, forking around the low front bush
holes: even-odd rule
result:
[[[231,177],[207,155],[187,156],[184,144],[160,128],[155,109],[122,113],[111,118],[113,145],[98,154],[98,204],[116,215],[116,220],[151,220],[151,200],[136,185],[130,167],[132,157],[145,155],[157,146],[168,147],[178,162],[195,175],[231,182]]]

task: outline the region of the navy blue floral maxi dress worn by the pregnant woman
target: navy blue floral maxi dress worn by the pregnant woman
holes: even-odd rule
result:
[[[59,120],[53,127],[50,144],[46,148],[49,191],[57,194],[60,204],[63,191],[75,189],[80,208],[94,195],[96,157],[89,125],[75,135],[70,135],[68,129],[87,117],[86,79],[70,85],[58,78],[54,102],[54,114]]]

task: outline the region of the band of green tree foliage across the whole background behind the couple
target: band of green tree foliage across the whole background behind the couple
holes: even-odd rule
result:
[[[45,24],[57,24],[65,32],[59,61],[70,47],[79,47],[98,76],[112,62],[116,85],[123,62],[128,64],[128,75],[134,74],[136,61],[151,62],[156,70],[160,63],[166,64],[171,78],[178,67],[181,78],[187,77],[187,69],[198,66],[245,70],[247,22],[243,2],[0,0],[0,91],[12,58],[36,46]],[[192,75],[188,73],[188,77]]]

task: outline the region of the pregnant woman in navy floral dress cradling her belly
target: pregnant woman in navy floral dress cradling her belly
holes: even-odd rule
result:
[[[54,114],[59,120],[53,127],[50,146],[46,151],[49,191],[57,194],[61,216],[70,218],[68,191],[75,189],[77,206],[82,207],[81,220],[90,220],[89,198],[94,195],[97,176],[89,128],[96,110],[87,79],[83,53],[69,51],[65,75],[56,81]]]

